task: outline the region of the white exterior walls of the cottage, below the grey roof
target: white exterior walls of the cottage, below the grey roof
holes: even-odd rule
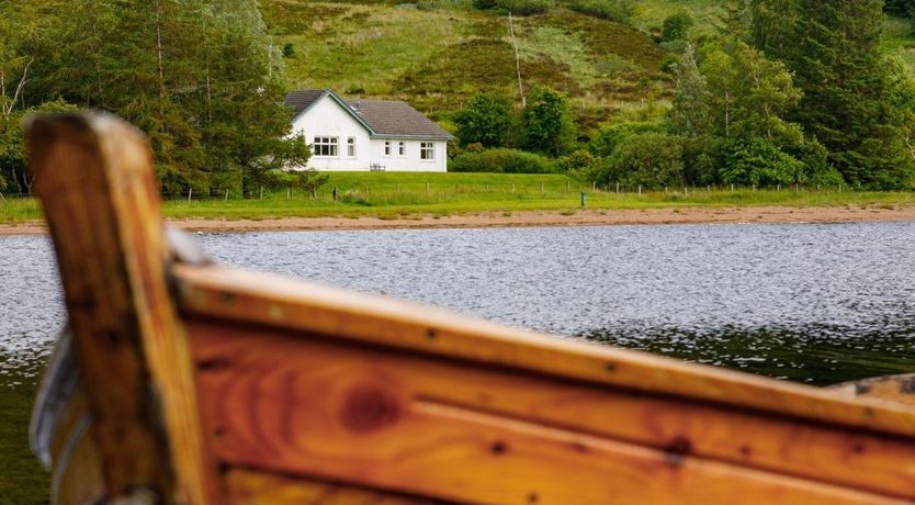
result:
[[[434,159],[420,159],[420,143],[408,138],[371,138],[365,130],[349,112],[329,96],[321,98],[310,109],[296,117],[293,133],[304,133],[308,145],[314,137],[337,137],[337,156],[316,156],[308,159],[308,168],[321,171],[369,170],[372,165],[382,165],[386,171],[421,171],[443,172],[448,170],[448,159],[444,141],[433,141],[436,144]],[[355,137],[355,157],[347,156],[347,138]],[[384,143],[391,142],[391,155],[385,156]],[[404,156],[398,155],[398,143],[406,144]]]

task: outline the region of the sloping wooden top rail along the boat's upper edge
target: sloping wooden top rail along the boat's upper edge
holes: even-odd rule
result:
[[[635,351],[546,337],[451,312],[218,267],[178,266],[189,314],[677,395],[915,437],[915,409]]]

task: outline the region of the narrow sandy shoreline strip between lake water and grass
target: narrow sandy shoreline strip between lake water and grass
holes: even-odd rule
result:
[[[478,214],[383,220],[379,217],[283,217],[266,220],[169,220],[192,232],[295,232],[395,228],[483,228],[527,226],[612,226],[725,223],[851,223],[915,221],[915,206],[884,207],[681,207],[649,210],[579,210],[483,212]],[[43,235],[41,222],[0,225],[0,235]]]

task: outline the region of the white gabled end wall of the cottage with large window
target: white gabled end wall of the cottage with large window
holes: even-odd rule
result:
[[[329,96],[321,98],[296,117],[293,133],[305,133],[305,139],[312,145],[314,137],[337,137],[337,156],[315,156],[308,159],[308,168],[316,170],[369,170],[372,162],[369,131],[355,121]],[[355,157],[347,156],[347,138],[355,137]]]

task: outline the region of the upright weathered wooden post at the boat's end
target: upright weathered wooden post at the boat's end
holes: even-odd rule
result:
[[[104,115],[38,119],[27,137],[109,497],[149,489],[207,503],[214,480],[149,146]]]

